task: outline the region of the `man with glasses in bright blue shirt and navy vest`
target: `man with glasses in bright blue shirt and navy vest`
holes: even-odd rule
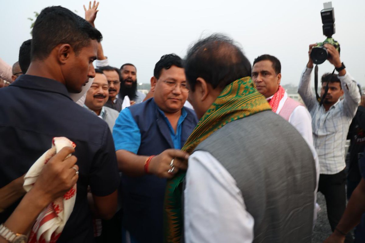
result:
[[[122,110],[113,129],[129,242],[162,242],[166,178],[187,168],[188,154],[180,149],[197,124],[184,107],[189,90],[179,56],[161,57],[151,86],[154,97]]]

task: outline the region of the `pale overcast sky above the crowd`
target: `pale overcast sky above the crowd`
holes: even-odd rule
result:
[[[20,45],[31,38],[27,18],[34,17],[34,11],[62,5],[84,17],[83,4],[88,1],[3,1],[0,57],[11,65],[17,61]],[[365,1],[334,0],[332,5],[333,37],[341,44],[341,60],[365,86]],[[103,34],[104,53],[111,65],[133,63],[138,82],[143,83],[150,81],[162,55],[174,52],[184,57],[195,40],[221,32],[239,43],[251,63],[261,54],[276,56],[282,66],[281,83],[297,85],[308,61],[308,45],[326,38],[320,0],[104,0],[98,9],[95,25]],[[319,65],[320,75],[332,70],[328,62]]]

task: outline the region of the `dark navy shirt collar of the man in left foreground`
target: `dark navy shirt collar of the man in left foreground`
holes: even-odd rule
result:
[[[54,92],[64,95],[65,97],[70,98],[69,92],[66,89],[66,86],[61,82],[58,82],[54,79],[43,78],[34,75],[23,74],[20,75],[16,81],[11,83],[9,86],[17,86],[23,87],[26,89],[35,89],[46,92]],[[71,99],[72,100],[72,99]]]

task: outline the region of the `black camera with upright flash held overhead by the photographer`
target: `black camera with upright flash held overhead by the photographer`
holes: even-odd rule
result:
[[[315,64],[324,63],[328,58],[327,48],[324,44],[333,45],[338,52],[340,52],[340,44],[332,38],[332,35],[336,32],[335,27],[335,11],[332,7],[332,3],[323,3],[323,9],[320,11],[323,24],[323,35],[327,36],[324,42],[320,42],[317,46],[313,47],[311,52],[311,59]]]

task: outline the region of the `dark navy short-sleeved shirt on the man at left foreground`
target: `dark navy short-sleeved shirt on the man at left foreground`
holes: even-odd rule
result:
[[[69,138],[76,144],[79,178],[73,211],[57,242],[94,242],[87,187],[95,196],[107,196],[120,181],[108,125],[73,102],[66,87],[53,79],[21,75],[0,89],[0,103],[0,188],[24,175],[53,137]],[[18,203],[0,213],[0,223]]]

